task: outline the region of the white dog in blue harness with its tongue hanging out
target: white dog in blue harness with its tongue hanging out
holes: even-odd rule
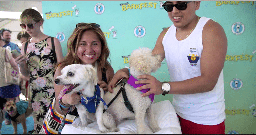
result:
[[[105,103],[103,100],[104,92],[102,88],[98,87],[96,89],[98,77],[95,68],[90,64],[71,64],[64,67],[61,73],[62,75],[55,79],[57,85],[64,85],[58,98],[62,98],[66,92],[80,92],[81,102],[84,101],[84,104],[78,103],[75,107],[77,108],[82,126],[87,126],[91,122],[97,121],[99,130],[102,133],[108,132],[102,121],[103,103]],[[97,94],[101,94],[101,97],[97,97]],[[96,102],[99,103],[97,104],[98,108],[96,108],[94,100],[97,100]]]

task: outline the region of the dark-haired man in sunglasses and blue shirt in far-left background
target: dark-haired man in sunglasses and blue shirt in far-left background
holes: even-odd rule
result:
[[[3,38],[5,40],[5,45],[3,47],[6,48],[7,46],[9,46],[11,48],[11,50],[16,49],[18,52],[20,52],[18,45],[10,42],[11,41],[11,31],[9,29],[2,28],[0,30],[0,34],[3,35]]]

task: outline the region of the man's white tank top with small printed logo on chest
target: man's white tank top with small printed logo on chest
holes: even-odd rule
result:
[[[174,25],[165,34],[162,44],[171,81],[183,81],[201,75],[202,31],[208,20],[210,18],[201,17],[195,29],[182,41],[177,40]],[[217,125],[223,122],[226,118],[223,70],[213,90],[174,94],[173,106],[179,116],[194,123]]]

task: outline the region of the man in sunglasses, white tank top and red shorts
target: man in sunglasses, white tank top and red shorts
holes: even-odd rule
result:
[[[137,90],[149,94],[173,94],[173,106],[182,134],[225,134],[223,66],[227,38],[220,24],[199,17],[200,1],[166,1],[163,7],[173,22],[164,29],[152,52],[166,58],[171,82],[160,82],[150,75],[138,76]],[[108,90],[128,76],[127,68],[114,75]]]

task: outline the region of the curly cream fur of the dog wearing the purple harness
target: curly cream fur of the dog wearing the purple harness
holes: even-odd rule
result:
[[[149,48],[139,48],[134,50],[129,57],[130,73],[133,77],[138,75],[149,74],[155,72],[161,66],[161,57],[159,55],[153,55]],[[104,96],[105,102],[108,104],[117,94],[122,84],[117,85],[113,89],[113,93],[107,92]],[[152,132],[160,130],[151,107],[151,99],[141,97],[140,91],[131,87],[129,84],[125,86],[126,94],[129,102],[131,103],[134,113],[129,111],[124,104],[122,93],[114,100],[109,106],[107,111],[103,113],[103,123],[110,131],[118,131],[116,127],[120,120],[128,118],[135,119],[137,125],[137,133],[144,134],[145,131],[145,116],[149,121],[149,126]]]

